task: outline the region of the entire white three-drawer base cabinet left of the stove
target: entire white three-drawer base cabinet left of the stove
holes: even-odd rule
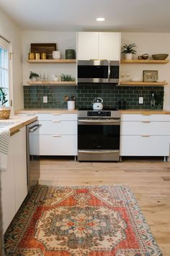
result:
[[[37,114],[40,155],[77,155],[77,114]]]

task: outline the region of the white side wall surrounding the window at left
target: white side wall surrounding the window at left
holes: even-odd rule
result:
[[[23,108],[22,82],[22,34],[20,28],[0,9],[0,35],[10,41],[12,46],[12,83],[14,110]]]

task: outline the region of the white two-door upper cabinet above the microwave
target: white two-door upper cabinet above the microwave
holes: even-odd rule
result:
[[[77,33],[77,59],[120,60],[121,33]]]

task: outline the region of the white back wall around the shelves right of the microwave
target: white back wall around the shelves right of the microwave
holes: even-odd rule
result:
[[[122,46],[125,43],[135,43],[137,54],[169,54],[170,59],[170,33],[122,33]],[[123,55],[122,55],[123,59]],[[130,74],[134,80],[143,80],[143,70],[158,70],[158,80],[169,83],[164,86],[164,109],[170,110],[170,63],[169,64],[123,64],[120,74]]]

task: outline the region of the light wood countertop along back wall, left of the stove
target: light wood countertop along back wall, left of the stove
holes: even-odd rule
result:
[[[16,114],[77,114],[78,110],[73,109],[73,110],[68,110],[68,109],[62,109],[62,108],[36,108],[36,109],[21,109],[18,111],[15,111]]]

